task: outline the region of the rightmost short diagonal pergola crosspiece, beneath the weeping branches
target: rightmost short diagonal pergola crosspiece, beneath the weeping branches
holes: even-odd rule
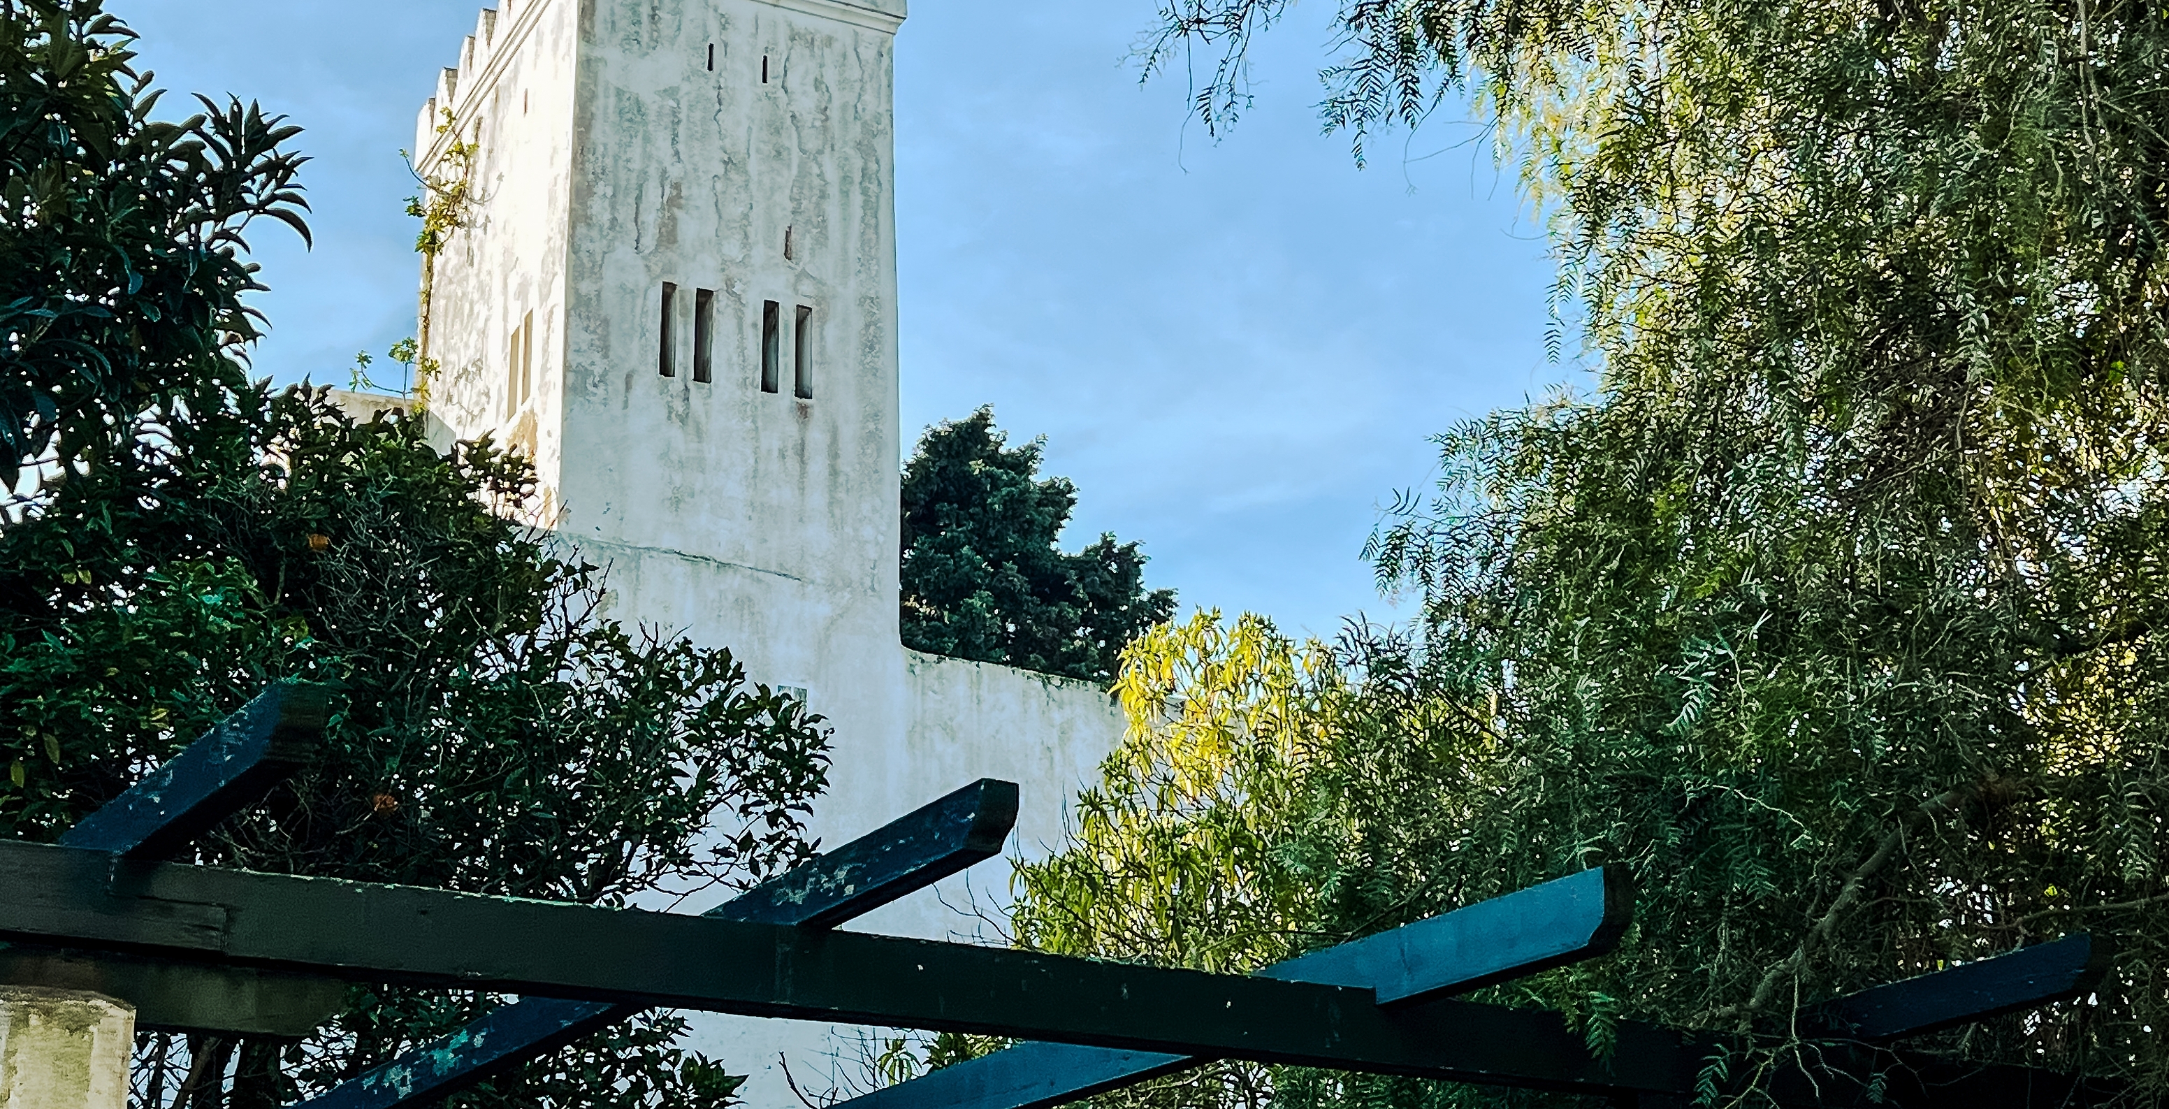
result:
[[[1800,1011],[1798,1029],[1870,1044],[1954,1029],[2076,998],[2100,985],[2110,961],[2110,944],[2080,931],[1811,1005]]]

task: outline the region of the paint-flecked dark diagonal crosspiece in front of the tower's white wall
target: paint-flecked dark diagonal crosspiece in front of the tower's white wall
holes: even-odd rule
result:
[[[831,929],[1002,853],[1017,823],[1017,783],[980,779],[826,855],[792,868],[705,916]],[[423,1105],[644,1011],[640,1003],[521,998],[399,1055],[306,1109]]]

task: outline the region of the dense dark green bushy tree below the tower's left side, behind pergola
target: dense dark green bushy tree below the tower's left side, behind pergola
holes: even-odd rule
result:
[[[356,428],[306,393],[165,428],[0,534],[0,831],[52,838],[299,675],[341,690],[325,760],[206,862],[625,903],[803,857],[818,721],[746,688],[727,651],[596,621],[596,571],[482,503],[516,497],[523,462],[447,460],[410,423]],[[495,1000],[360,992],[271,1076],[321,1089]],[[731,1083],[677,1029],[646,1016],[466,1105],[722,1105]]]

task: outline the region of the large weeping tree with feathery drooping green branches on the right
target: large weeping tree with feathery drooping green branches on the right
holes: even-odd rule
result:
[[[1215,126],[1284,7],[1165,7],[1163,48],[1228,59]],[[1338,645],[1321,753],[1252,816],[1286,829],[1254,857],[1319,894],[1260,912],[1323,942],[1629,866],[1618,955],[1492,994],[1599,1044],[1614,1016],[1746,1029],[2093,929],[2121,955],[2091,1003],[1920,1046],[2158,1100],[2169,13],[1362,0],[1343,28],[1325,113],[1358,143],[1464,89],[1497,126],[1601,386],[1451,430],[1438,495],[1377,536],[1423,619]],[[1106,803],[1156,829],[1124,851],[1182,872],[1160,842],[1202,816],[1124,781]],[[1037,875],[1026,938],[1134,951],[1102,879]],[[1254,1079],[1284,1105],[1507,1100]]]

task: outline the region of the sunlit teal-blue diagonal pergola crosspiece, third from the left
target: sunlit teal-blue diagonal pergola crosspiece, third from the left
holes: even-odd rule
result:
[[[1625,872],[1579,875],[1286,959],[1258,977],[1369,987],[1421,1003],[1609,953],[1633,916]],[[1048,1109],[1210,1063],[1212,1057],[1078,1044],[1017,1044],[835,1109]]]

